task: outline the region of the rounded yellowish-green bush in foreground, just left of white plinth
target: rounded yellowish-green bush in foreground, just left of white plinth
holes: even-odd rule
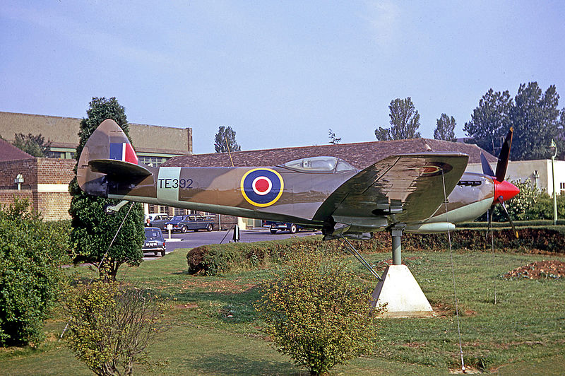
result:
[[[304,249],[263,286],[256,307],[278,351],[320,375],[371,353],[378,310],[371,312],[370,302],[371,290],[339,257]]]

